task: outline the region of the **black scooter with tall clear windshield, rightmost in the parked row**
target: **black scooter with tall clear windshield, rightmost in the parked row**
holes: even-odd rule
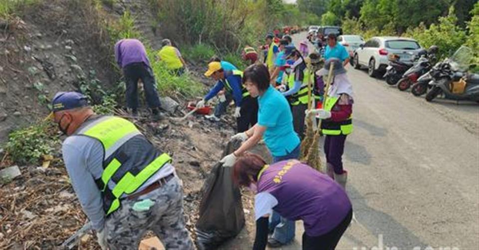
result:
[[[469,47],[461,46],[451,58],[434,65],[426,101],[444,94],[447,99],[479,102],[479,74],[467,72],[472,54]]]

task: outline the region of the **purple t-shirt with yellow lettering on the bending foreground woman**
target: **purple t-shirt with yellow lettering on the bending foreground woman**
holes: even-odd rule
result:
[[[276,198],[273,210],[282,217],[302,220],[310,237],[334,229],[352,207],[346,192],[334,180],[296,160],[270,165],[260,175],[257,189]]]

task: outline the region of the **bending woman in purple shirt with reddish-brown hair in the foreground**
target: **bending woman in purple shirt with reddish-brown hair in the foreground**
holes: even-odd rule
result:
[[[352,219],[352,206],[344,189],[327,175],[297,160],[266,165],[246,153],[233,166],[233,178],[256,193],[256,238],[253,250],[263,250],[272,210],[288,220],[304,223],[303,250],[334,249]]]

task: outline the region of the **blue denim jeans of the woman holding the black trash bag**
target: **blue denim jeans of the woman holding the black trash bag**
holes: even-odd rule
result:
[[[289,160],[289,159],[298,159],[300,153],[299,144],[293,151],[288,153],[285,156],[273,156],[273,163]],[[286,218],[281,217],[278,213],[273,210],[273,214],[269,217],[269,232],[272,232],[272,238],[282,244],[286,244],[294,239],[295,232],[295,222],[290,221]]]

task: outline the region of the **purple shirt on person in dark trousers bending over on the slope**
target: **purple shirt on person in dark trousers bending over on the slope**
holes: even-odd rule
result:
[[[145,46],[137,39],[119,40],[115,44],[115,58],[120,68],[135,62],[143,62],[150,66]]]

